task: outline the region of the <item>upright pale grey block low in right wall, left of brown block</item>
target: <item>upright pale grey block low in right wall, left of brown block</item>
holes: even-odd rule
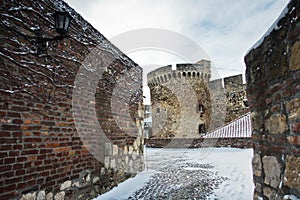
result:
[[[264,183],[277,188],[280,183],[281,167],[275,156],[264,156],[263,169],[265,172]]]

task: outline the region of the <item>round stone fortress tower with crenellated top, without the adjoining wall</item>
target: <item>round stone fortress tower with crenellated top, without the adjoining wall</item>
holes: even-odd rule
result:
[[[150,72],[152,137],[195,138],[210,129],[210,61],[165,66]]]

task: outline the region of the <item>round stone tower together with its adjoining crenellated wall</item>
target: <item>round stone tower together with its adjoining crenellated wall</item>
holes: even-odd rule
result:
[[[197,138],[246,113],[242,75],[210,81],[210,61],[158,68],[147,75],[154,138]]]

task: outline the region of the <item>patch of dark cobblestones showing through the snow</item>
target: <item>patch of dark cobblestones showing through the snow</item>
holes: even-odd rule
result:
[[[176,159],[175,155],[173,158],[170,156],[162,157],[159,153],[151,155],[147,162],[148,169],[158,173],[128,199],[207,199],[227,179],[218,176],[209,164],[190,163],[184,153],[176,155]]]

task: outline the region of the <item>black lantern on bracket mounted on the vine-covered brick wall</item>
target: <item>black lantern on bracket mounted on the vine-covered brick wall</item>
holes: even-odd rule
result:
[[[55,11],[53,16],[55,21],[55,29],[59,35],[53,38],[45,38],[41,36],[41,33],[39,33],[39,37],[37,38],[38,54],[45,52],[50,46],[56,47],[58,45],[58,41],[67,37],[67,33],[72,19],[71,16],[64,11]]]

